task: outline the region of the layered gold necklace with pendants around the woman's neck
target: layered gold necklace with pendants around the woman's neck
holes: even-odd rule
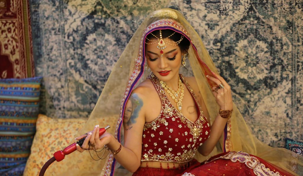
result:
[[[181,79],[179,78],[177,91],[174,91],[174,90],[172,90],[172,88],[168,87],[168,85],[164,81],[160,81],[160,84],[161,84],[162,88],[164,88],[165,91],[169,94],[169,96],[177,103],[177,110],[179,112],[181,112],[181,109],[182,109],[181,101],[184,96],[184,87],[183,87]]]

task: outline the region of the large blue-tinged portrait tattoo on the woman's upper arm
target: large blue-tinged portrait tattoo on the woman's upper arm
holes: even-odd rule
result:
[[[123,116],[123,125],[125,131],[132,129],[132,124],[136,123],[139,112],[143,106],[143,101],[137,94],[132,94],[128,99],[127,106]]]

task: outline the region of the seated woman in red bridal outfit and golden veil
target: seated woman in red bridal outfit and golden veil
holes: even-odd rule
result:
[[[186,59],[193,77],[179,75]],[[105,175],[114,173],[116,161],[134,175],[291,175],[291,152],[271,149],[251,136],[233,105],[230,86],[214,72],[201,39],[184,17],[172,9],[155,11],[119,58],[89,119],[88,124],[114,117],[122,99],[115,135],[100,137],[96,125],[76,138],[86,136],[77,150],[105,145],[111,153]],[[197,150],[208,158],[221,154],[200,164],[193,159]],[[244,152],[228,152],[233,150],[261,155],[288,171]],[[200,161],[206,157],[198,156]]]

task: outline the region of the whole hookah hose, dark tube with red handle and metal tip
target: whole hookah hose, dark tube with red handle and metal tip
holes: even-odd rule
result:
[[[100,128],[99,130],[99,136],[101,136],[102,134],[105,133],[105,131],[110,128],[110,126],[106,126],[105,128]],[[80,139],[79,141],[77,142],[74,142],[72,143],[71,145],[67,146],[63,151],[62,150],[59,150],[57,152],[54,153],[54,156],[49,159],[42,167],[40,173],[39,173],[39,176],[43,176],[46,169],[48,168],[49,165],[51,165],[54,161],[62,161],[64,159],[64,156],[65,155],[68,155],[72,152],[75,152],[77,150],[76,148],[76,143],[79,145],[79,146],[82,146],[83,142],[84,142],[84,138]]]

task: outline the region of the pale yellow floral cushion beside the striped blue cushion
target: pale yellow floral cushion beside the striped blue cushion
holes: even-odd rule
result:
[[[87,119],[55,119],[39,114],[36,123],[37,131],[24,175],[38,175],[44,163],[52,158],[56,151],[63,150],[75,142],[71,139],[75,138],[75,132],[79,131],[86,121]],[[72,157],[72,154],[66,155],[65,158]],[[49,169],[52,170],[52,165],[48,167],[45,175]]]

